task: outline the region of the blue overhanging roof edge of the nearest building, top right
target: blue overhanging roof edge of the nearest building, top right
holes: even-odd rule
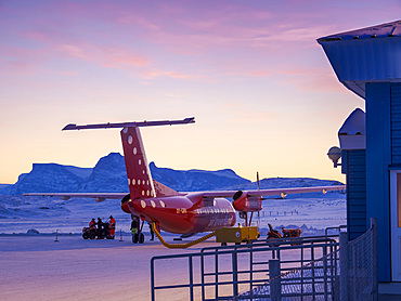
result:
[[[338,80],[365,97],[368,82],[401,82],[401,21],[318,39]]]

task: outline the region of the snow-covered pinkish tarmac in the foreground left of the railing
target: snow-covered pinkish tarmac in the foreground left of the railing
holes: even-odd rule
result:
[[[167,249],[156,239],[133,245],[130,236],[86,240],[79,235],[0,236],[0,300],[151,300],[154,256],[198,252]],[[170,239],[172,243],[172,238]],[[186,267],[167,262],[157,279],[182,283]],[[156,300],[187,300],[185,290],[165,290]]]

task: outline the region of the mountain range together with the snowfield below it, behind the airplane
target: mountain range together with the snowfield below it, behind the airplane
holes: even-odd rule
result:
[[[257,183],[238,176],[231,169],[218,171],[173,170],[150,165],[153,178],[177,191],[255,189]],[[260,188],[336,185],[336,181],[306,178],[272,178],[260,181]],[[113,214],[118,225],[129,230],[130,219],[121,211],[119,200],[95,202],[86,198],[63,200],[52,197],[25,197],[30,192],[126,192],[128,183],[124,157],[112,153],[99,160],[94,168],[78,168],[57,163],[35,163],[29,173],[21,174],[14,185],[0,185],[0,234],[79,233],[91,218],[107,219]],[[288,195],[286,199],[269,198],[260,213],[260,224],[276,225],[307,222],[308,226],[322,228],[344,223],[345,195],[321,193]],[[313,210],[312,210],[313,208]],[[319,213],[320,212],[320,213]],[[83,222],[85,221],[85,222]]]

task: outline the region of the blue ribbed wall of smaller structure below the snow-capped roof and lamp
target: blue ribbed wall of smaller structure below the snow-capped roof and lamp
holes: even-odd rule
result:
[[[341,171],[347,174],[347,232],[352,240],[366,232],[366,150],[341,152]]]

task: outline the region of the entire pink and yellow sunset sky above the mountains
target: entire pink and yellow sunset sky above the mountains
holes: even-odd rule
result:
[[[196,122],[141,130],[148,162],[345,182],[326,154],[364,100],[316,39],[400,12],[400,0],[0,0],[0,183],[122,154],[118,130],[67,123],[185,117]]]

